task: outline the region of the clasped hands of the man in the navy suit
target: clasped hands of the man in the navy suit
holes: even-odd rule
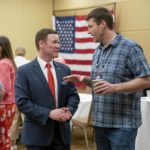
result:
[[[68,108],[63,107],[52,110],[49,114],[49,117],[56,121],[65,122],[67,120],[70,120],[72,114]]]

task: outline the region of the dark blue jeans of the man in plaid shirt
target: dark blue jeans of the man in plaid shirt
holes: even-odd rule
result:
[[[97,150],[135,150],[137,128],[94,128]]]

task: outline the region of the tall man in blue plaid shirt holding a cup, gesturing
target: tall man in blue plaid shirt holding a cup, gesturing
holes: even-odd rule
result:
[[[140,98],[142,90],[150,87],[150,68],[142,48],[114,32],[109,10],[96,8],[86,20],[88,32],[100,43],[93,55],[91,78],[71,75],[64,80],[83,82],[93,89],[97,150],[135,150],[142,124]],[[99,81],[92,86],[95,79]]]

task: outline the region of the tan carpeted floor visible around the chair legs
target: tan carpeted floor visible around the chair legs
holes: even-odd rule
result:
[[[87,134],[89,141],[89,150],[96,150],[95,143],[93,141],[93,130],[87,129]],[[72,137],[73,139],[71,144],[71,150],[87,150],[82,129],[74,128]],[[25,150],[24,145],[18,143],[18,150]]]

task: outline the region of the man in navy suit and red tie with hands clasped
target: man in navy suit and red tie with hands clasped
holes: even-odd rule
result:
[[[25,114],[21,141],[27,150],[70,150],[69,120],[77,110],[79,96],[73,83],[63,81],[70,75],[69,67],[53,60],[60,48],[57,32],[41,29],[35,44],[36,59],[18,68],[15,83],[16,103]]]

